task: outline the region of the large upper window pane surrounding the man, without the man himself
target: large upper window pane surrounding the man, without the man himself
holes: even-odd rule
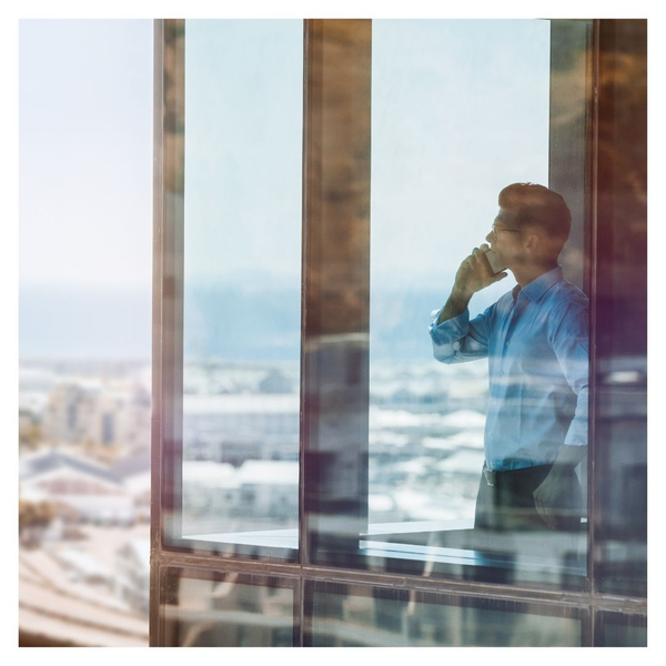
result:
[[[316,181],[312,186],[305,182],[307,230],[315,239],[306,246],[305,297],[326,312],[322,321],[327,326],[324,336],[323,324],[305,322],[311,424],[305,511],[314,562],[585,585],[585,519],[557,536],[548,529],[538,535],[472,529],[483,465],[487,362],[437,364],[426,313],[443,305],[460,261],[490,231],[497,193],[516,181],[553,182],[575,202],[563,263],[573,266],[572,279],[585,287],[588,173],[582,168],[571,174],[558,150],[565,140],[579,154],[589,149],[589,22],[373,21],[372,33],[359,33],[353,41],[354,61],[372,69],[372,83],[360,68],[353,79],[341,64],[323,69],[323,95],[313,104],[346,103],[345,113],[359,119],[357,131],[339,128],[334,114],[320,127],[316,113],[311,131],[315,139],[340,133],[350,142],[346,151],[354,154],[356,169],[350,200],[357,204],[349,212],[342,206],[330,211],[326,199],[317,200]],[[329,56],[336,48],[334,31],[324,29],[311,43],[323,62],[336,62]],[[558,50],[566,51],[568,69]],[[566,104],[554,89],[555,75],[568,78],[567,90],[579,91],[566,121],[559,118]],[[344,88],[336,88],[341,80]],[[341,145],[342,140],[314,144],[312,159],[331,192],[350,189],[346,173],[336,171]],[[346,232],[333,235],[329,226]],[[326,239],[321,246],[319,234]],[[353,250],[345,246],[347,239],[354,240]],[[344,279],[332,269],[341,255],[350,262]],[[313,292],[320,275],[326,289]],[[497,283],[475,295],[472,315],[513,284]],[[349,297],[343,301],[350,293],[356,295],[351,307]],[[334,310],[340,302],[346,319]],[[347,327],[336,330],[333,322]],[[552,391],[543,363],[533,364],[531,379],[541,385],[528,400]],[[424,394],[430,400],[422,400]],[[578,467],[583,485],[585,468],[585,463]],[[316,480],[311,491],[309,480]]]

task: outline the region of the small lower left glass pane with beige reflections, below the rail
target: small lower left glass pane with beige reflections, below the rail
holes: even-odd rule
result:
[[[293,647],[294,591],[265,576],[170,569],[167,647]]]

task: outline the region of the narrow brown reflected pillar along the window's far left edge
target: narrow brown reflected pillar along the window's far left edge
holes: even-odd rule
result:
[[[160,21],[155,31],[162,78],[154,102],[161,118],[154,128],[153,553],[181,536],[185,21]]]

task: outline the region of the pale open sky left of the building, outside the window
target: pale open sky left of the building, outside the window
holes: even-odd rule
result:
[[[150,357],[152,20],[19,24],[19,355]]]

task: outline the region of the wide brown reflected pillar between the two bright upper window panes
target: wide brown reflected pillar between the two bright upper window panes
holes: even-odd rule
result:
[[[311,562],[367,524],[371,21],[306,21],[303,509]]]

